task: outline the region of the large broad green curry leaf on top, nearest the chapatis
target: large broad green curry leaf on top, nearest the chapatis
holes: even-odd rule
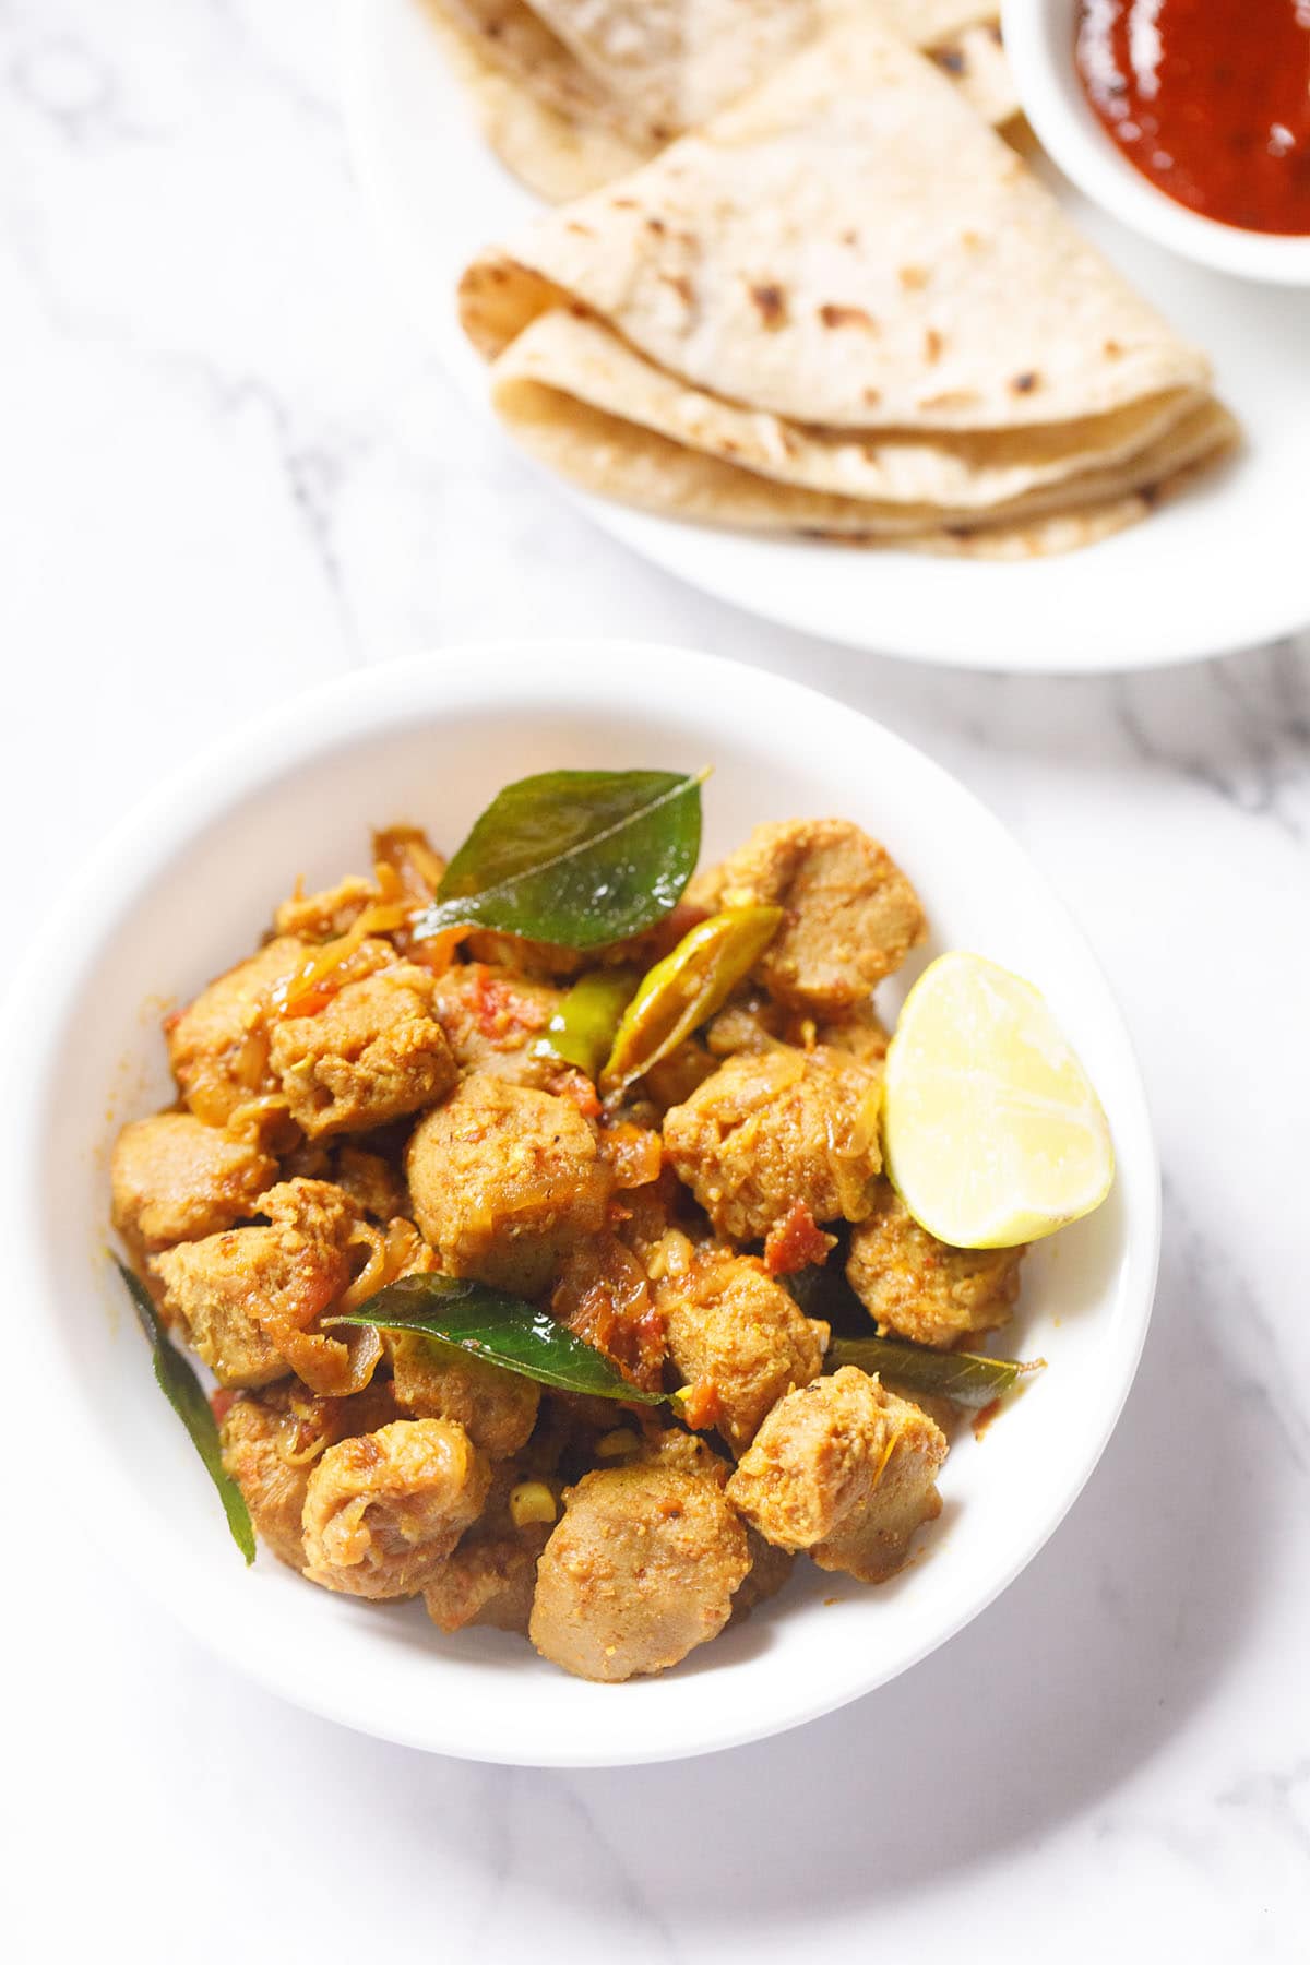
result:
[[[473,924],[599,949],[662,920],[701,851],[701,778],[546,770],[499,792],[464,841],[420,939]]]

